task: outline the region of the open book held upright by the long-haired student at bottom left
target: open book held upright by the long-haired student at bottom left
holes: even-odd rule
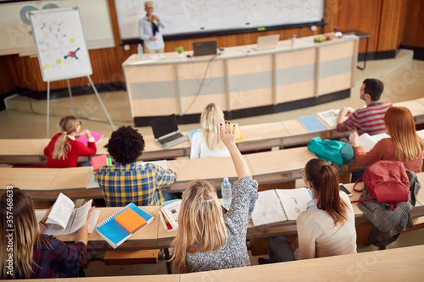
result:
[[[86,224],[88,212],[90,211],[92,200],[86,202],[78,209],[73,209],[75,204],[66,195],[60,193],[52,210],[47,217],[46,223],[49,227],[44,231],[47,235],[69,235],[76,233]],[[99,217],[100,211],[93,211],[88,220],[88,232],[93,232],[95,222]],[[37,219],[45,215],[45,212],[36,212]],[[91,224],[90,224],[91,223]],[[91,229],[90,229],[91,225]],[[90,231],[91,230],[91,231]]]

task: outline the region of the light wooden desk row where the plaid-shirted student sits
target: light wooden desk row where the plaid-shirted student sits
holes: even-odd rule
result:
[[[250,171],[259,183],[276,183],[300,178],[299,170],[315,154],[307,147],[283,149],[244,155]],[[177,173],[177,180],[170,188],[181,192],[196,179],[204,179],[219,188],[224,177],[235,181],[237,173],[230,157],[211,159],[176,159],[167,161],[167,168]],[[342,166],[341,171],[354,171],[355,163]],[[34,200],[54,200],[59,192],[68,197],[101,198],[100,188],[86,189],[91,167],[77,168],[0,168],[0,187],[15,185],[30,193]],[[4,189],[3,188],[3,189]],[[166,192],[166,191],[165,191]]]

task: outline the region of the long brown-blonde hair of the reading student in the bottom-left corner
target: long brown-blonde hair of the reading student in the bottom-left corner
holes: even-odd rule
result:
[[[9,192],[10,191],[10,192]],[[40,243],[43,240],[38,228],[37,218],[35,217],[35,211],[33,201],[30,196],[20,190],[19,188],[13,188],[13,190],[7,190],[4,195],[0,197],[0,230],[6,231],[11,229],[8,224],[6,215],[8,207],[8,199],[12,199],[13,202],[13,276],[18,275],[19,278],[30,278],[33,274],[33,255],[34,255],[34,244]],[[0,278],[8,278],[8,263],[6,259],[12,248],[9,248],[9,240],[5,234],[0,236]],[[40,244],[37,244],[40,245]]]

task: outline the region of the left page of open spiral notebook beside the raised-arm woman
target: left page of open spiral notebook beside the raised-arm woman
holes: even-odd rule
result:
[[[258,195],[259,197],[252,213],[254,226],[287,221],[275,190],[261,191]]]

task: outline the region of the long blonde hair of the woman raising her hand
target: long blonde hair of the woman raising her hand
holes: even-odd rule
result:
[[[171,247],[175,269],[187,271],[187,253],[213,252],[227,238],[223,212],[216,189],[205,180],[194,180],[182,195],[178,214],[178,231]]]

